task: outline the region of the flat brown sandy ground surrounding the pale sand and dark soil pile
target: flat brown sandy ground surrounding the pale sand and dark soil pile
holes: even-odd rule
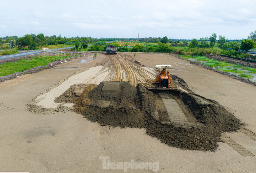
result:
[[[111,56],[98,55],[96,60],[92,60],[93,54],[88,54],[54,69],[0,83],[0,171],[124,172],[102,169],[99,157],[109,156],[111,162],[158,162],[158,172],[256,172],[256,156],[244,157],[225,143],[219,143],[215,152],[180,150],[145,135],[143,129],[103,127],[74,112],[38,115],[25,110],[25,105],[43,90],[77,70],[94,67]],[[121,55],[131,57],[133,54]],[[84,58],[90,59],[80,63]],[[149,68],[156,64],[171,64],[174,67],[172,74],[183,78],[196,94],[226,106],[247,124],[247,129],[256,133],[255,86],[191,65],[169,54],[138,53],[134,60]],[[112,71],[122,74],[122,62],[120,59],[115,62],[118,68]],[[102,75],[106,70],[97,74]],[[139,69],[136,70],[126,74],[133,76],[130,80],[134,85],[143,80],[138,76]],[[100,79],[93,78],[90,82],[97,80],[98,83]],[[255,140],[241,132],[227,135],[256,155]],[[152,170],[128,169],[128,172]]]

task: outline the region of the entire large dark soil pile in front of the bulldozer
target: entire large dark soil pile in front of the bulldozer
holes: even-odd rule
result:
[[[114,127],[145,128],[147,134],[169,146],[188,150],[216,150],[222,132],[241,127],[240,120],[213,100],[188,93],[166,93],[189,105],[200,126],[178,126],[155,119],[154,94],[138,84],[101,82],[85,88],[74,110],[92,122]],[[206,100],[202,102],[200,100]],[[206,104],[207,103],[207,104]]]

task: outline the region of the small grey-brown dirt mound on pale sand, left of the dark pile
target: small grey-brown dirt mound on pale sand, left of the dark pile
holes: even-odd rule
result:
[[[54,102],[56,103],[74,103],[76,99],[82,94],[83,90],[88,87],[89,84],[74,84],[71,85],[62,95],[57,97]]]

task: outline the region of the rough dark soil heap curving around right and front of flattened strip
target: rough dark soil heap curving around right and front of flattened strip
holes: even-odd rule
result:
[[[201,126],[179,127],[173,124],[162,124],[149,118],[147,134],[160,139],[167,145],[188,150],[215,151],[220,142],[222,132],[233,132],[241,128],[242,124],[233,114],[215,101],[203,104],[193,94],[181,93],[172,95],[182,99],[189,105]]]

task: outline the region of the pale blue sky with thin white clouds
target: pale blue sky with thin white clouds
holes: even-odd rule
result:
[[[0,37],[242,39],[256,30],[255,9],[255,0],[1,0]]]

